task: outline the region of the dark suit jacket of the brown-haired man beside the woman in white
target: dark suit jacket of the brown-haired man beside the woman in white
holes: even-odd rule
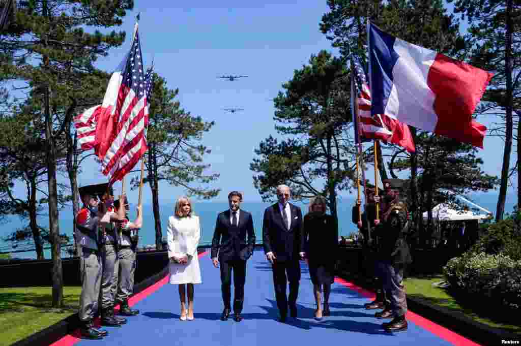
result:
[[[219,261],[233,258],[245,261],[252,255],[255,246],[252,214],[241,209],[237,226],[231,224],[230,215],[229,209],[217,215],[212,239],[212,258],[216,258],[219,253]]]

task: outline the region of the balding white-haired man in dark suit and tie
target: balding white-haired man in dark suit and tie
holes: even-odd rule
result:
[[[289,203],[290,198],[290,188],[279,185],[278,202],[266,208],[262,226],[264,252],[272,267],[280,322],[286,322],[288,305],[291,317],[296,318],[296,299],[299,295],[300,283],[299,260],[304,257],[303,244],[301,244],[302,211]],[[286,297],[288,281],[290,294]]]

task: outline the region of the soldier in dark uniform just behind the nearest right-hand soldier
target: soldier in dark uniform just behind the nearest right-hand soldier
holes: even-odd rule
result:
[[[379,195],[381,195],[382,190],[378,188]],[[378,235],[374,231],[375,223],[374,220],[376,218],[376,204],[380,201],[379,197],[375,196],[375,186],[369,183],[366,183],[366,193],[367,193],[367,206],[366,210],[362,213],[362,221],[358,221],[358,208],[361,208],[362,201],[357,200],[356,206],[353,207],[353,223],[355,223],[364,236],[364,254],[369,258],[371,264],[369,265],[369,275],[373,277],[373,284],[376,292],[376,298],[374,301],[370,303],[364,304],[364,307],[368,310],[370,309],[384,309],[386,307],[386,293],[383,287],[383,275],[380,270],[380,261],[378,257],[378,245],[380,244]],[[369,220],[369,226],[373,229],[371,232],[371,241],[368,240],[368,225],[367,221]],[[364,261],[367,262],[367,261]],[[380,314],[380,313],[377,313]],[[376,316],[381,317],[381,316]]]

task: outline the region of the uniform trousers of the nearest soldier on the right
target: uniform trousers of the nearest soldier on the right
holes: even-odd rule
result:
[[[384,289],[389,300],[389,309],[394,317],[402,317],[407,313],[407,297],[403,286],[403,264],[392,264],[390,261],[382,261],[384,271]]]

